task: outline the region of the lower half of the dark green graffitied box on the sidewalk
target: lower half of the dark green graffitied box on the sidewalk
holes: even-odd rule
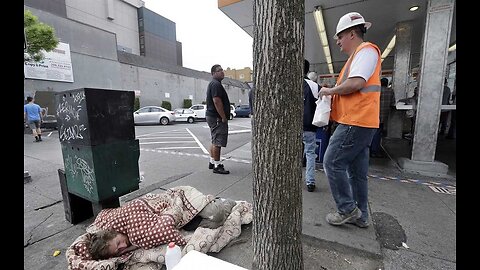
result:
[[[61,145],[69,193],[100,203],[139,188],[138,139],[94,146]]]

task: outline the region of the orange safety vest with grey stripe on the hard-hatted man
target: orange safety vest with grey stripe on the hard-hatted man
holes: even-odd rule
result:
[[[367,128],[378,128],[380,124],[380,72],[382,61],[380,49],[373,43],[363,42],[355,52],[348,58],[338,75],[337,85],[347,80],[350,73],[350,65],[355,55],[365,47],[372,47],[378,52],[377,65],[372,76],[359,91],[347,95],[332,96],[332,111],[330,119],[341,124],[360,126]]]

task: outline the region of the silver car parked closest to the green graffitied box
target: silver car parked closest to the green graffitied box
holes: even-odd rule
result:
[[[133,113],[133,122],[138,124],[162,124],[175,121],[175,114],[159,106],[145,106]]]

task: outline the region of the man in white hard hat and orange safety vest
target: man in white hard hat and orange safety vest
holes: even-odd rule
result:
[[[320,90],[320,97],[332,95],[330,118],[338,123],[323,160],[337,206],[337,212],[326,216],[331,225],[369,225],[368,153],[380,121],[381,72],[380,49],[364,41],[371,25],[358,12],[340,18],[334,39],[349,57],[336,85]]]

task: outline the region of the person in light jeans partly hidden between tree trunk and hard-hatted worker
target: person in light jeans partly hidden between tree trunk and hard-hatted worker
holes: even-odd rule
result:
[[[317,135],[317,126],[312,124],[313,116],[318,99],[318,84],[307,77],[310,69],[310,62],[304,60],[303,67],[303,155],[306,159],[305,166],[305,182],[307,191],[313,192],[315,190],[315,141]]]

